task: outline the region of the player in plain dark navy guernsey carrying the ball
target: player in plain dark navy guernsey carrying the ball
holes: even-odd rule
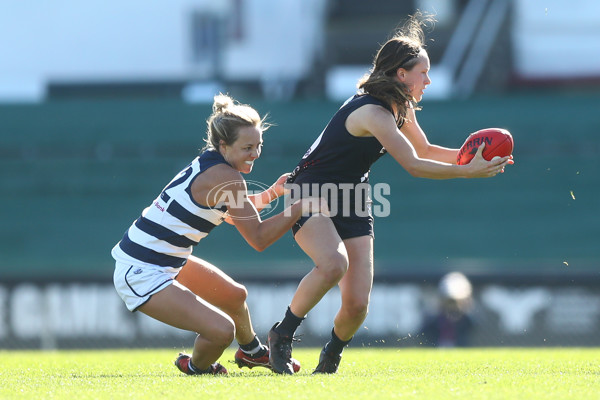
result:
[[[492,177],[512,163],[510,157],[484,160],[482,145],[469,164],[456,165],[458,149],[429,143],[419,127],[416,104],[431,83],[422,26],[431,20],[420,13],[411,16],[381,46],[373,68],[358,84],[358,94],[336,112],[289,178],[292,193],[300,192],[295,198],[316,194],[327,198],[331,218],[303,216],[294,225],[294,238],[315,267],[298,285],[283,320],[269,332],[276,372],[293,372],[293,335],[333,286],[340,287],[341,307],[314,373],[338,370],[344,347],[367,315],[373,285],[373,218],[364,213],[369,211],[368,196],[355,196],[342,186],[350,184],[358,191],[384,153],[412,176],[430,179]],[[332,191],[332,186],[339,189]],[[340,208],[344,203],[349,206],[345,211]]]

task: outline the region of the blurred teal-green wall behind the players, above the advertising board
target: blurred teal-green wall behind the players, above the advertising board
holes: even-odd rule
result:
[[[339,104],[251,102],[276,123],[249,179],[290,171]],[[600,94],[537,93],[424,102],[434,143],[509,129],[515,165],[487,180],[409,176],[390,156],[371,173],[391,214],[376,220],[376,268],[408,274],[594,273],[600,261]],[[210,105],[65,101],[0,106],[1,281],[109,279],[110,249],[202,147]],[[279,204],[278,207],[281,207]],[[291,235],[263,253],[222,225],[195,254],[234,277],[311,267]]]

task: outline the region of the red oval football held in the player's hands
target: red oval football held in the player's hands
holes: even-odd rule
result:
[[[505,157],[512,154],[514,142],[506,129],[487,128],[471,133],[458,152],[456,163],[464,165],[471,162],[477,149],[485,143],[483,158],[490,161],[494,157]]]

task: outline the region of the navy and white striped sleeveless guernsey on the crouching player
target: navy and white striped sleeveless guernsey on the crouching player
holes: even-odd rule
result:
[[[227,162],[219,152],[206,150],[177,174],[113,248],[115,260],[183,266],[193,247],[226,217],[225,206],[202,206],[194,201],[191,193],[194,179],[217,164]]]

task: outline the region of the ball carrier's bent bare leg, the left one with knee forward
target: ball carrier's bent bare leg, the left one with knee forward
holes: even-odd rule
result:
[[[302,318],[344,276],[348,268],[348,254],[333,222],[320,214],[306,221],[295,239],[315,263],[298,285],[290,304],[292,313]]]

